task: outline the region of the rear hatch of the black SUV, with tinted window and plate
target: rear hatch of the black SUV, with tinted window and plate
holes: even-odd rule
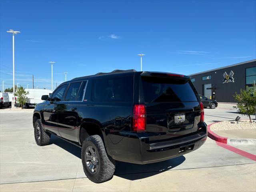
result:
[[[197,132],[200,104],[188,76],[142,72],[140,103],[146,107],[149,142],[162,142]]]

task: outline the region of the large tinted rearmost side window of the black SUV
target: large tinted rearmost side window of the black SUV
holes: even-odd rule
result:
[[[93,80],[92,100],[132,102],[133,76]]]

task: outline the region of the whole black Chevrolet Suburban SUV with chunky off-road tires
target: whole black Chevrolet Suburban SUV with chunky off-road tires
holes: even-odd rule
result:
[[[34,110],[36,144],[55,135],[79,146],[84,172],[96,183],[112,178],[116,160],[161,162],[207,138],[204,107],[188,76],[114,70],[64,82],[48,97]]]

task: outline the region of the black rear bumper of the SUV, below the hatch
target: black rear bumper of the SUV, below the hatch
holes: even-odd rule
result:
[[[147,133],[119,132],[109,134],[107,152],[114,159],[122,162],[148,164],[182,156],[192,152],[206,141],[207,128],[194,134],[164,142],[150,143]]]

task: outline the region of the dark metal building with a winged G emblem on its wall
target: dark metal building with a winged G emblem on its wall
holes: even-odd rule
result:
[[[190,75],[198,91],[217,102],[236,102],[233,95],[256,83],[256,59]]]

